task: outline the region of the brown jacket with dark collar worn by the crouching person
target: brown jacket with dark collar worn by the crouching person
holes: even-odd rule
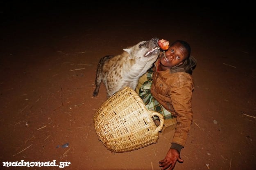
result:
[[[158,63],[157,60],[154,67],[151,93],[165,109],[177,116],[177,125],[172,143],[184,147],[193,121],[191,101],[194,82],[191,74],[196,60],[190,56],[188,62],[184,63],[185,69],[182,71],[179,68],[177,69],[178,72],[169,69],[156,71]],[[187,72],[190,72],[190,74]]]

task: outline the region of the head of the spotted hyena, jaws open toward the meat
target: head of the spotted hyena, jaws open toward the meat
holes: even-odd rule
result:
[[[123,50],[129,53],[129,59],[140,60],[143,62],[148,62],[150,60],[155,61],[160,52],[160,48],[157,44],[158,40],[159,38],[152,38],[151,40],[141,41],[137,45]]]

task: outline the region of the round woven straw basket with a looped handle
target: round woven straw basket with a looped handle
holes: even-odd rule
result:
[[[158,116],[156,126],[152,117]],[[157,143],[163,116],[145,107],[138,94],[126,87],[107,99],[94,115],[95,131],[112,152],[128,152]]]

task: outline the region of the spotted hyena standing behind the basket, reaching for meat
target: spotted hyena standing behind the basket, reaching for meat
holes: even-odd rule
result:
[[[107,98],[123,89],[131,87],[135,90],[140,76],[145,74],[159,56],[158,38],[141,41],[138,44],[123,49],[116,56],[104,56],[97,67],[95,90],[97,96],[101,82],[106,87]]]

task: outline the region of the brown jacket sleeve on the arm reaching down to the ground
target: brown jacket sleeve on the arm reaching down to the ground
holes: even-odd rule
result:
[[[169,91],[174,111],[177,114],[177,125],[172,143],[177,143],[184,147],[193,121],[191,102],[194,85],[193,81],[184,81],[183,78],[179,80]]]

